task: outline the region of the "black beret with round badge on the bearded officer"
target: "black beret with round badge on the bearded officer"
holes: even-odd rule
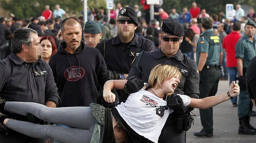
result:
[[[135,10],[133,10],[132,7],[122,8],[119,11],[118,15],[125,16],[125,17],[130,17],[130,19],[134,22],[134,24],[136,24],[137,26],[139,25],[137,13],[135,12]]]

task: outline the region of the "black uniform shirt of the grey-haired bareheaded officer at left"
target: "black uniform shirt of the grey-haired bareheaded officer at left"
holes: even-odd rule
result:
[[[0,61],[0,95],[7,101],[60,102],[50,66],[42,59],[24,62],[14,53]]]

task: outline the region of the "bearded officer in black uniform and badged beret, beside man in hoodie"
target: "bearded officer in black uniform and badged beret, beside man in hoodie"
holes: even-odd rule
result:
[[[135,34],[139,25],[132,7],[124,7],[118,13],[118,35],[97,45],[107,64],[108,79],[126,79],[135,57],[142,50],[151,51],[154,44]],[[120,101],[123,101],[122,99]]]

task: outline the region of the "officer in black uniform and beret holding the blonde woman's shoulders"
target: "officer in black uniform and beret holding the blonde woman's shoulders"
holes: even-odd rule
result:
[[[159,32],[161,48],[154,52],[142,52],[136,57],[123,93],[127,95],[133,93],[136,87],[140,89],[140,84],[148,82],[150,71],[157,64],[168,64],[177,67],[182,73],[182,79],[174,93],[185,94],[191,98],[199,98],[197,65],[195,61],[184,56],[179,49],[180,43],[183,41],[183,35],[183,27],[178,21],[172,18],[163,19],[161,31]],[[192,108],[174,110],[175,113],[170,114],[159,137],[159,142],[161,143],[185,143],[185,130],[189,130],[190,126],[183,126],[183,124],[189,118],[185,114],[192,111]],[[191,122],[190,118],[189,121]],[[186,124],[191,125],[191,123]]]

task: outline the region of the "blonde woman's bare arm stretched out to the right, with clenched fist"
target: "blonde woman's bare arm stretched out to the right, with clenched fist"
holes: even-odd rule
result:
[[[235,82],[233,81],[229,86],[228,92],[229,92],[230,96],[235,97],[239,93],[239,90],[240,89],[239,89],[238,84],[235,84]],[[227,101],[229,99],[230,99],[230,97],[228,96],[227,93],[223,93],[220,95],[211,96],[211,97],[207,97],[207,98],[203,98],[203,99],[191,98],[189,107],[199,108],[199,109],[207,109],[207,108],[211,108],[215,105],[218,105],[220,103],[223,103],[224,101]]]

